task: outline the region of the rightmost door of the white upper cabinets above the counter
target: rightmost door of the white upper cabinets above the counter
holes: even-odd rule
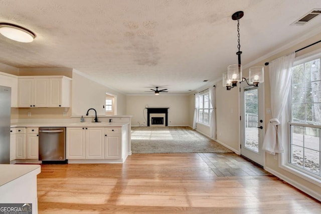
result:
[[[62,78],[49,78],[49,107],[61,107]]]

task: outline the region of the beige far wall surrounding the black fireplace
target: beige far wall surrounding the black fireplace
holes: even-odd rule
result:
[[[127,95],[126,103],[126,114],[132,115],[132,126],[146,125],[146,105],[149,108],[169,108],[169,126],[189,125],[190,103],[187,95]]]

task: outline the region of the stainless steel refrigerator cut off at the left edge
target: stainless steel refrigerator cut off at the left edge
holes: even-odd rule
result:
[[[10,163],[11,88],[0,86],[0,164]]]

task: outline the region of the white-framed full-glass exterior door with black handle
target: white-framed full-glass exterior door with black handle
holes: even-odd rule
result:
[[[241,84],[241,155],[264,165],[263,85],[249,87]]]

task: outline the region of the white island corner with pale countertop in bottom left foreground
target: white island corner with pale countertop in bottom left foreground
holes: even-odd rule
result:
[[[40,165],[0,164],[0,171],[2,206],[4,203],[22,203],[30,205],[32,213],[38,213],[37,174],[41,172]]]

